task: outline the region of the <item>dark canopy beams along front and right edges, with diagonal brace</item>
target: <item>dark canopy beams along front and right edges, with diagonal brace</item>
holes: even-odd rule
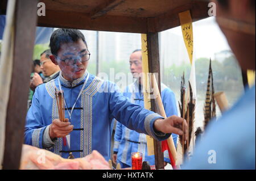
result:
[[[102,4],[88,14],[46,10],[46,16],[39,16],[38,26],[76,28],[81,30],[113,31],[130,33],[160,32],[180,26],[179,12],[191,11],[193,22],[208,17],[208,3],[192,1],[175,11],[149,18],[107,15],[114,5],[124,0],[112,0]],[[113,7],[111,9],[111,7]],[[53,18],[54,17],[54,18]],[[94,19],[92,19],[94,17]],[[97,17],[97,18],[96,18]]]

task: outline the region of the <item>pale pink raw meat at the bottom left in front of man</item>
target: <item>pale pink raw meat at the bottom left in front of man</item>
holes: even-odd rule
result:
[[[109,170],[109,163],[93,150],[83,158],[65,159],[51,151],[23,145],[21,170]]]

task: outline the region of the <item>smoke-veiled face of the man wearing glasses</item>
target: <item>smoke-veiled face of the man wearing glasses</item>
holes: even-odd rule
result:
[[[88,65],[88,61],[84,61],[83,58],[85,57],[85,54],[88,53],[88,49],[82,40],[60,45],[56,61],[60,66],[63,77],[67,79],[67,81],[73,81],[82,77]],[[76,59],[76,62],[73,65],[67,65],[62,61],[72,58]]]

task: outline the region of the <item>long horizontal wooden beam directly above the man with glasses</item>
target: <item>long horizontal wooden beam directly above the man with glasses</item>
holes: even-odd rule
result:
[[[146,33],[147,19],[127,16],[100,16],[96,19],[92,19],[90,14],[81,12],[46,10],[46,16],[38,17],[38,26],[76,28],[80,30],[94,31]]]

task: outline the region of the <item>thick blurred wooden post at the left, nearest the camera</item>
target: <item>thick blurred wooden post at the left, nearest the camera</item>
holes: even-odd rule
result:
[[[3,169],[19,169],[20,165],[35,41],[37,4],[36,0],[16,1],[14,61],[7,107]]]

